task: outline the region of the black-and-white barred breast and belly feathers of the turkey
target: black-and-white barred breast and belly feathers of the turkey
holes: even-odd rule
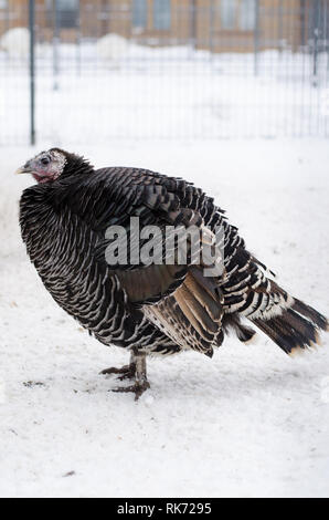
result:
[[[22,197],[21,231],[31,261],[59,305],[106,345],[162,355],[179,352],[131,308],[118,277],[94,261],[99,238],[68,208],[56,214],[40,188],[30,188]]]

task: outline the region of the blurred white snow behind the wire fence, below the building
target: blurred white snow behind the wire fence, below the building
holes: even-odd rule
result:
[[[210,54],[146,48],[109,34],[53,52],[36,45],[36,136],[109,139],[328,136],[328,56]],[[54,56],[57,62],[54,63]],[[57,70],[57,72],[55,72]],[[29,63],[0,51],[0,143],[29,142]],[[315,84],[317,86],[315,86]],[[65,114],[65,124],[63,124]],[[96,122],[96,124],[91,124]]]

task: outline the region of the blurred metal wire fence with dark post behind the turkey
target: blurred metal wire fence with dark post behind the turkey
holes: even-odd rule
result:
[[[0,145],[328,136],[328,77],[329,0],[0,0]]]

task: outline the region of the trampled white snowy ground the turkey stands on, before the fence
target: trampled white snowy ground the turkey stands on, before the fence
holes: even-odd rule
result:
[[[42,143],[44,149],[50,143]],[[146,166],[204,187],[293,294],[328,314],[328,142],[70,145],[97,166]],[[17,221],[12,173],[36,149],[2,148],[0,495],[328,497],[329,339],[286,356],[259,333],[148,363],[138,403],[99,371],[127,362],[44,290]],[[120,383],[123,384],[123,383]]]

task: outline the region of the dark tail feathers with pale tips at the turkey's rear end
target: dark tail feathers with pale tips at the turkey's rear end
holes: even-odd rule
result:
[[[252,322],[287,354],[320,344],[319,330],[328,330],[327,319],[297,299],[293,299],[293,304],[283,309],[282,314]]]

